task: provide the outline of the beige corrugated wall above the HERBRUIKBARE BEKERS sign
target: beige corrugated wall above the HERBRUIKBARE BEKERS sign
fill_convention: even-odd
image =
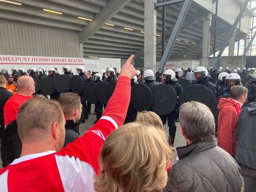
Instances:
[[[0,54],[81,57],[76,31],[0,20]]]

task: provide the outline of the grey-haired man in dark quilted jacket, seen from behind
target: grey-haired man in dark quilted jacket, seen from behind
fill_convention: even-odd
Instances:
[[[236,161],[214,142],[214,117],[199,102],[180,107],[180,129],[188,145],[177,148],[180,161],[168,173],[165,191],[232,191],[242,189]]]

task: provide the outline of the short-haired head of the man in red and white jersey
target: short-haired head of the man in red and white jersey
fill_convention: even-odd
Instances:
[[[65,118],[58,102],[42,96],[29,99],[20,106],[17,125],[22,152],[24,148],[33,147],[33,143],[39,143],[33,150],[58,151],[63,147]]]

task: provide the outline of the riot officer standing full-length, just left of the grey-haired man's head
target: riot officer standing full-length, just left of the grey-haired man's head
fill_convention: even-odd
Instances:
[[[179,97],[180,93],[183,92],[182,86],[177,82],[177,78],[175,77],[175,72],[172,69],[167,69],[163,72],[163,81],[162,83],[168,84],[172,86],[172,88],[177,93],[177,96]],[[168,127],[169,127],[169,143],[170,145],[173,145],[174,139],[175,139],[175,133],[176,133],[176,119],[178,116],[179,111],[179,105],[176,106],[176,109],[168,114],[168,115],[160,115],[160,118],[163,122],[163,125],[166,124],[166,120],[168,120]],[[177,114],[178,113],[178,114]]]

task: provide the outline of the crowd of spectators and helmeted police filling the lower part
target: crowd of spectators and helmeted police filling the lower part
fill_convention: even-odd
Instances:
[[[121,70],[76,68],[85,84],[116,82],[108,104],[95,104],[95,125],[83,136],[79,125],[88,118],[90,103],[82,95],[67,92],[51,99],[35,95],[36,82],[60,76],[56,68],[48,74],[45,68],[31,67],[28,73],[12,68],[10,74],[3,69],[0,189],[255,191],[255,68],[233,72],[222,67],[172,68],[154,74],[151,69],[136,70],[132,59]],[[63,72],[74,76],[69,66]],[[195,101],[178,102],[168,115],[138,112],[129,105],[131,87],[138,83],[150,89],[168,84],[179,98],[180,79],[202,84],[220,99],[217,121],[211,109]],[[187,145],[176,148],[179,161],[173,164],[178,121]]]

